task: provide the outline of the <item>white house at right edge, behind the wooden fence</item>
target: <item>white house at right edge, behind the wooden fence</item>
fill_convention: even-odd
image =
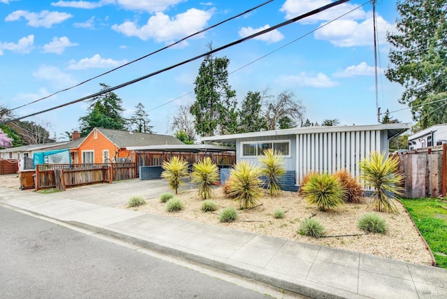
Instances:
[[[408,136],[410,150],[447,143],[447,124],[436,124]]]

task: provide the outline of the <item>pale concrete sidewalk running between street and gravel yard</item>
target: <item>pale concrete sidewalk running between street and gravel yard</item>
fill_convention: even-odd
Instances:
[[[98,205],[73,190],[45,195],[0,187],[0,204],[311,298],[447,298],[441,268]],[[95,194],[98,202],[101,196],[107,194]]]

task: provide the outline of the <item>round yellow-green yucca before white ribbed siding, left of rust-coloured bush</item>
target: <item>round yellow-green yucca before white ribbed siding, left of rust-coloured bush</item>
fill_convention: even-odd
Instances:
[[[344,203],[346,191],[339,181],[328,173],[314,173],[302,187],[302,195],[308,203],[317,205],[322,211]]]

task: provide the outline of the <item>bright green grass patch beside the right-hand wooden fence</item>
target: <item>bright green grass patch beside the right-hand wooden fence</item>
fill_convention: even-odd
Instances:
[[[447,201],[420,198],[402,199],[402,203],[432,249],[438,266],[447,269]]]

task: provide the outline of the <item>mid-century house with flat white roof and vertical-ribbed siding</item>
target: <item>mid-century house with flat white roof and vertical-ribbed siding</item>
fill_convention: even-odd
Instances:
[[[284,154],[287,170],[286,189],[298,187],[310,171],[334,173],[346,169],[360,175],[359,161],[370,152],[388,154],[388,142],[410,129],[411,124],[374,124],[368,126],[306,126],[293,129],[239,133],[203,137],[204,143],[233,143],[236,162],[258,163],[264,149],[278,149]]]

